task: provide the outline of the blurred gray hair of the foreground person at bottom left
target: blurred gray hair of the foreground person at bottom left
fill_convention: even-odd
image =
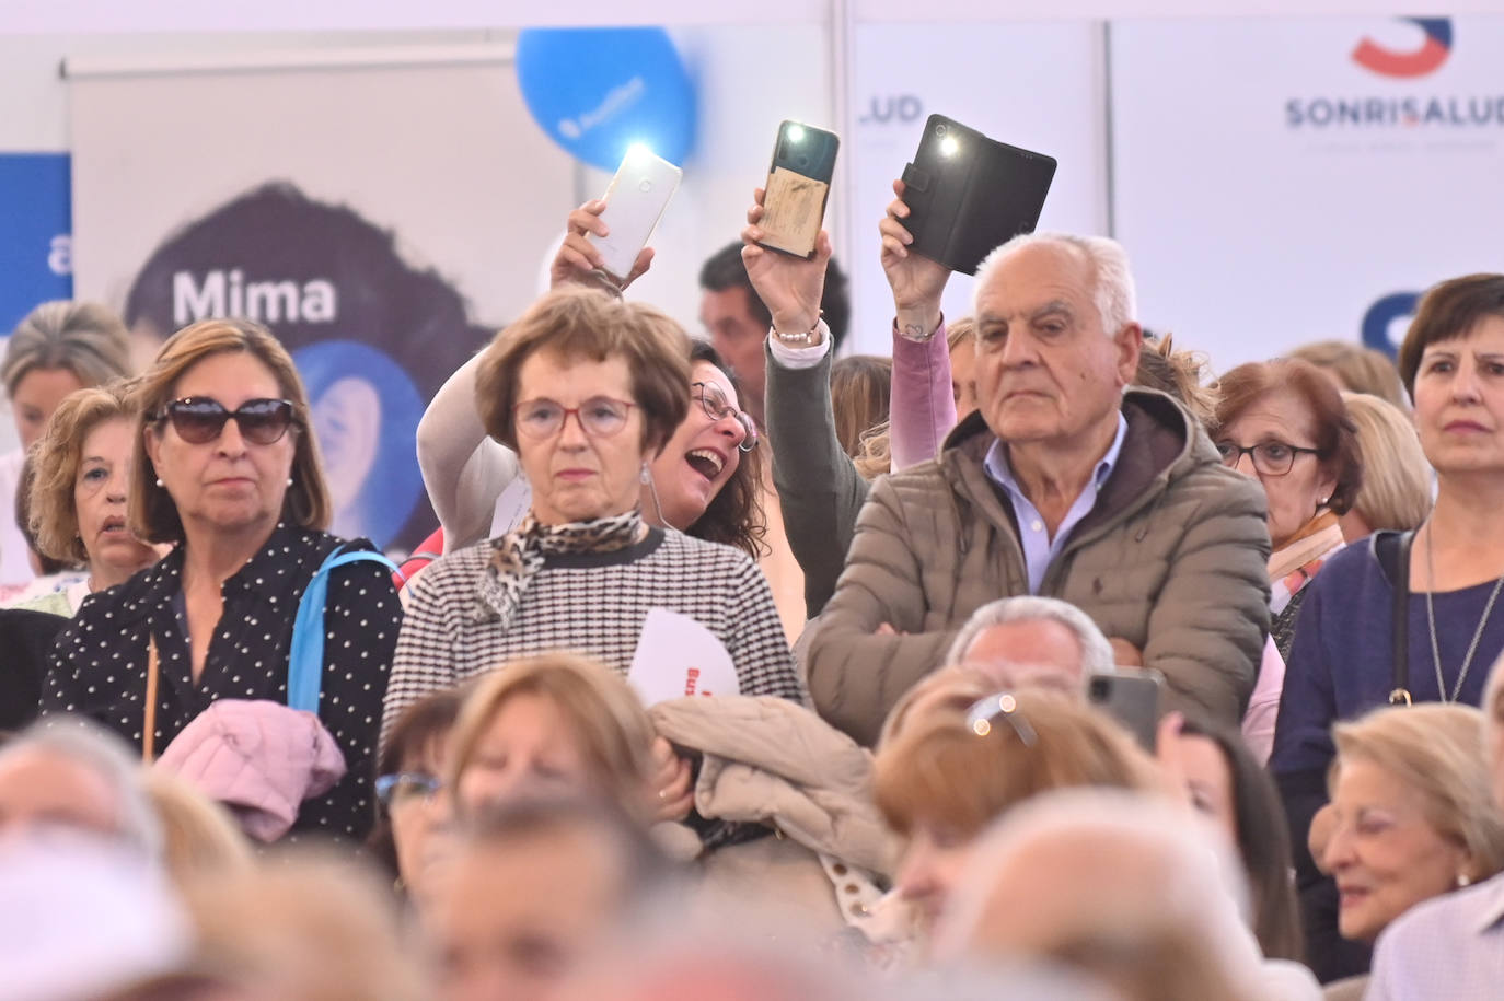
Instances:
[[[51,755],[99,776],[116,797],[116,837],[152,860],[162,857],[165,836],[146,791],[141,762],[114,733],[78,715],[48,715],[0,747],[0,764],[27,752]]]

